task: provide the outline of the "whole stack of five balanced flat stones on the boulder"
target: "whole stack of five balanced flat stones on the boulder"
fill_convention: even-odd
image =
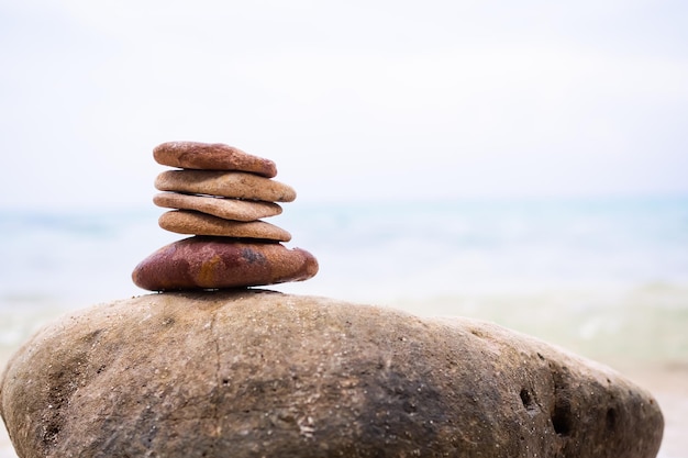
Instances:
[[[144,259],[132,273],[151,291],[242,288],[299,281],[318,272],[308,252],[280,242],[291,235],[262,217],[281,213],[277,202],[296,192],[273,180],[275,163],[223,144],[169,142],[157,146],[158,164],[177,167],[162,172],[153,199],[164,213],[164,230],[192,237],[167,245]]]

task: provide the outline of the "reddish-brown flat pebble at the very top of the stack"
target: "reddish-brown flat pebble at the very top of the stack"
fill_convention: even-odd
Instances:
[[[201,170],[240,170],[273,178],[277,166],[269,159],[222,143],[167,142],[153,149],[158,164]]]

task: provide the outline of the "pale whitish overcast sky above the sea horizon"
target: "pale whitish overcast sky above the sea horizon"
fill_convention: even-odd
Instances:
[[[688,192],[688,3],[0,0],[0,206],[151,204],[155,145],[301,201]]]

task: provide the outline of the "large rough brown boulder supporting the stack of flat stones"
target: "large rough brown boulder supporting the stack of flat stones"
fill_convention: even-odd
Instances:
[[[9,362],[33,457],[654,457],[622,376],[473,320],[244,290],[99,305]]]

